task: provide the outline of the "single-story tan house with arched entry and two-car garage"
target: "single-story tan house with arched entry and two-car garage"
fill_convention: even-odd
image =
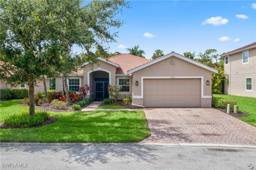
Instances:
[[[88,97],[102,100],[108,97],[107,85],[122,86],[121,96],[132,96],[132,105],[144,107],[211,107],[212,73],[218,70],[171,53],[149,60],[130,54],[120,54],[70,73],[68,87],[78,91],[90,85]],[[56,91],[61,91],[62,77],[56,77]]]

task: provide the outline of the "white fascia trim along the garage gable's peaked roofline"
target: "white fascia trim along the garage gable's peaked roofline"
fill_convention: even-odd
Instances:
[[[154,64],[154,63],[158,63],[159,61],[162,61],[162,60],[167,59],[167,58],[172,57],[172,56],[175,56],[175,57],[177,57],[177,58],[179,58],[179,59],[182,59],[182,60],[187,61],[187,62],[189,62],[189,63],[192,63],[192,64],[194,64],[194,65],[197,65],[198,67],[202,67],[202,68],[204,68],[204,69],[207,69],[207,70],[209,70],[209,71],[212,71],[213,73],[218,73],[218,70],[216,70],[216,69],[214,69],[214,68],[212,68],[212,67],[209,67],[209,66],[207,66],[207,65],[204,65],[204,64],[202,64],[202,63],[200,63],[200,62],[198,62],[198,61],[195,61],[195,60],[190,59],[190,58],[188,58],[188,57],[184,57],[183,55],[180,55],[180,54],[175,53],[174,51],[172,51],[171,53],[166,54],[166,55],[164,55],[164,56],[162,56],[162,57],[159,57],[159,58],[157,58],[157,59],[155,59],[155,60],[153,60],[153,61],[150,61],[149,63],[145,63],[144,65],[140,65],[140,66],[138,66],[138,67],[136,67],[136,68],[134,68],[134,69],[129,70],[129,71],[127,72],[127,74],[132,74],[132,73],[134,73],[135,71],[138,71],[138,70],[140,70],[140,69],[143,69],[143,68],[145,68],[145,67],[148,67],[148,66],[150,66],[150,65],[152,65],[152,64]]]

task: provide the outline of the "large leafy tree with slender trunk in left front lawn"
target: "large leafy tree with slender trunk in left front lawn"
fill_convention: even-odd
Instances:
[[[110,28],[122,26],[116,16],[128,4],[121,0],[81,4],[81,0],[0,2],[1,79],[11,85],[28,84],[30,115],[35,111],[36,79],[77,68],[77,55],[71,53],[74,44],[92,53],[93,48],[104,51],[108,48],[104,44],[116,41],[117,32]],[[89,59],[96,62],[94,55]]]

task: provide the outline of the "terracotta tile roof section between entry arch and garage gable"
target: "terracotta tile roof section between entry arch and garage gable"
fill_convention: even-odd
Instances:
[[[140,65],[144,65],[152,60],[138,57],[131,54],[119,54],[108,58],[109,61],[120,65],[120,69],[116,69],[116,74],[126,74],[128,70],[134,69]]]

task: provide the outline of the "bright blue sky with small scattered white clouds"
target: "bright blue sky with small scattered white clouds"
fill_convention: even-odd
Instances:
[[[89,1],[85,1],[84,4]],[[156,49],[219,54],[256,41],[256,1],[136,1],[118,16],[124,25],[109,52],[139,45],[150,59]],[[80,50],[77,50],[78,53]]]

